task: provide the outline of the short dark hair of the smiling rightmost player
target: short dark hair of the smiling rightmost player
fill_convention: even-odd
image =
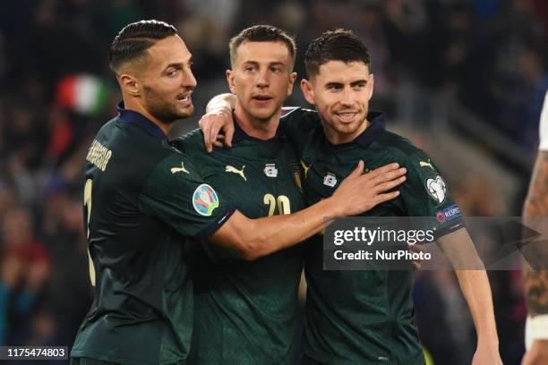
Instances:
[[[352,30],[328,30],[315,38],[304,54],[307,77],[313,78],[320,72],[320,66],[330,61],[344,63],[363,62],[371,64],[369,51]]]

